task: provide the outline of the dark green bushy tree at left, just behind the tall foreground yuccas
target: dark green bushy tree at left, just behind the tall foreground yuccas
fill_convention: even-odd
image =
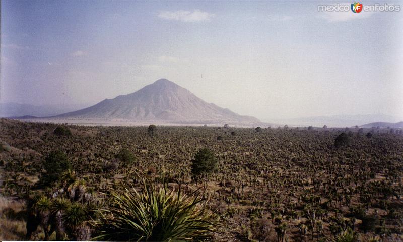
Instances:
[[[42,175],[42,181],[45,184],[50,184],[56,181],[65,170],[71,169],[72,165],[65,153],[53,151],[46,157],[44,168],[46,173]]]

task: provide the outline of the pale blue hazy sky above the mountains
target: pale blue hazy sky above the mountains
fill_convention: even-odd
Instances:
[[[261,120],[403,119],[403,11],[318,12],[331,3],[2,0],[0,102],[95,104],[167,78]]]

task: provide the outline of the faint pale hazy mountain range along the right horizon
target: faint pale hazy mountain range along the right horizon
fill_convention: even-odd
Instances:
[[[292,119],[279,119],[277,123],[294,125],[294,126],[316,126],[322,127],[351,127],[371,122],[383,120],[384,122],[395,123],[399,119],[384,114],[359,114],[359,115],[334,115],[334,116],[313,116]]]

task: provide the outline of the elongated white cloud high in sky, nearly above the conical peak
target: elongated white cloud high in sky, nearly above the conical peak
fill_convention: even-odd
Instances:
[[[177,20],[182,22],[203,22],[203,21],[209,22],[214,17],[214,14],[201,12],[200,10],[196,9],[193,11],[184,11],[184,10],[179,10],[176,12],[163,11],[158,15],[158,17],[162,19]]]

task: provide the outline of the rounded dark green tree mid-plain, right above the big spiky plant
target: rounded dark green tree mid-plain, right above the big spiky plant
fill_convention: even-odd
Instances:
[[[196,182],[217,168],[217,159],[208,148],[199,150],[191,163],[192,179]]]

